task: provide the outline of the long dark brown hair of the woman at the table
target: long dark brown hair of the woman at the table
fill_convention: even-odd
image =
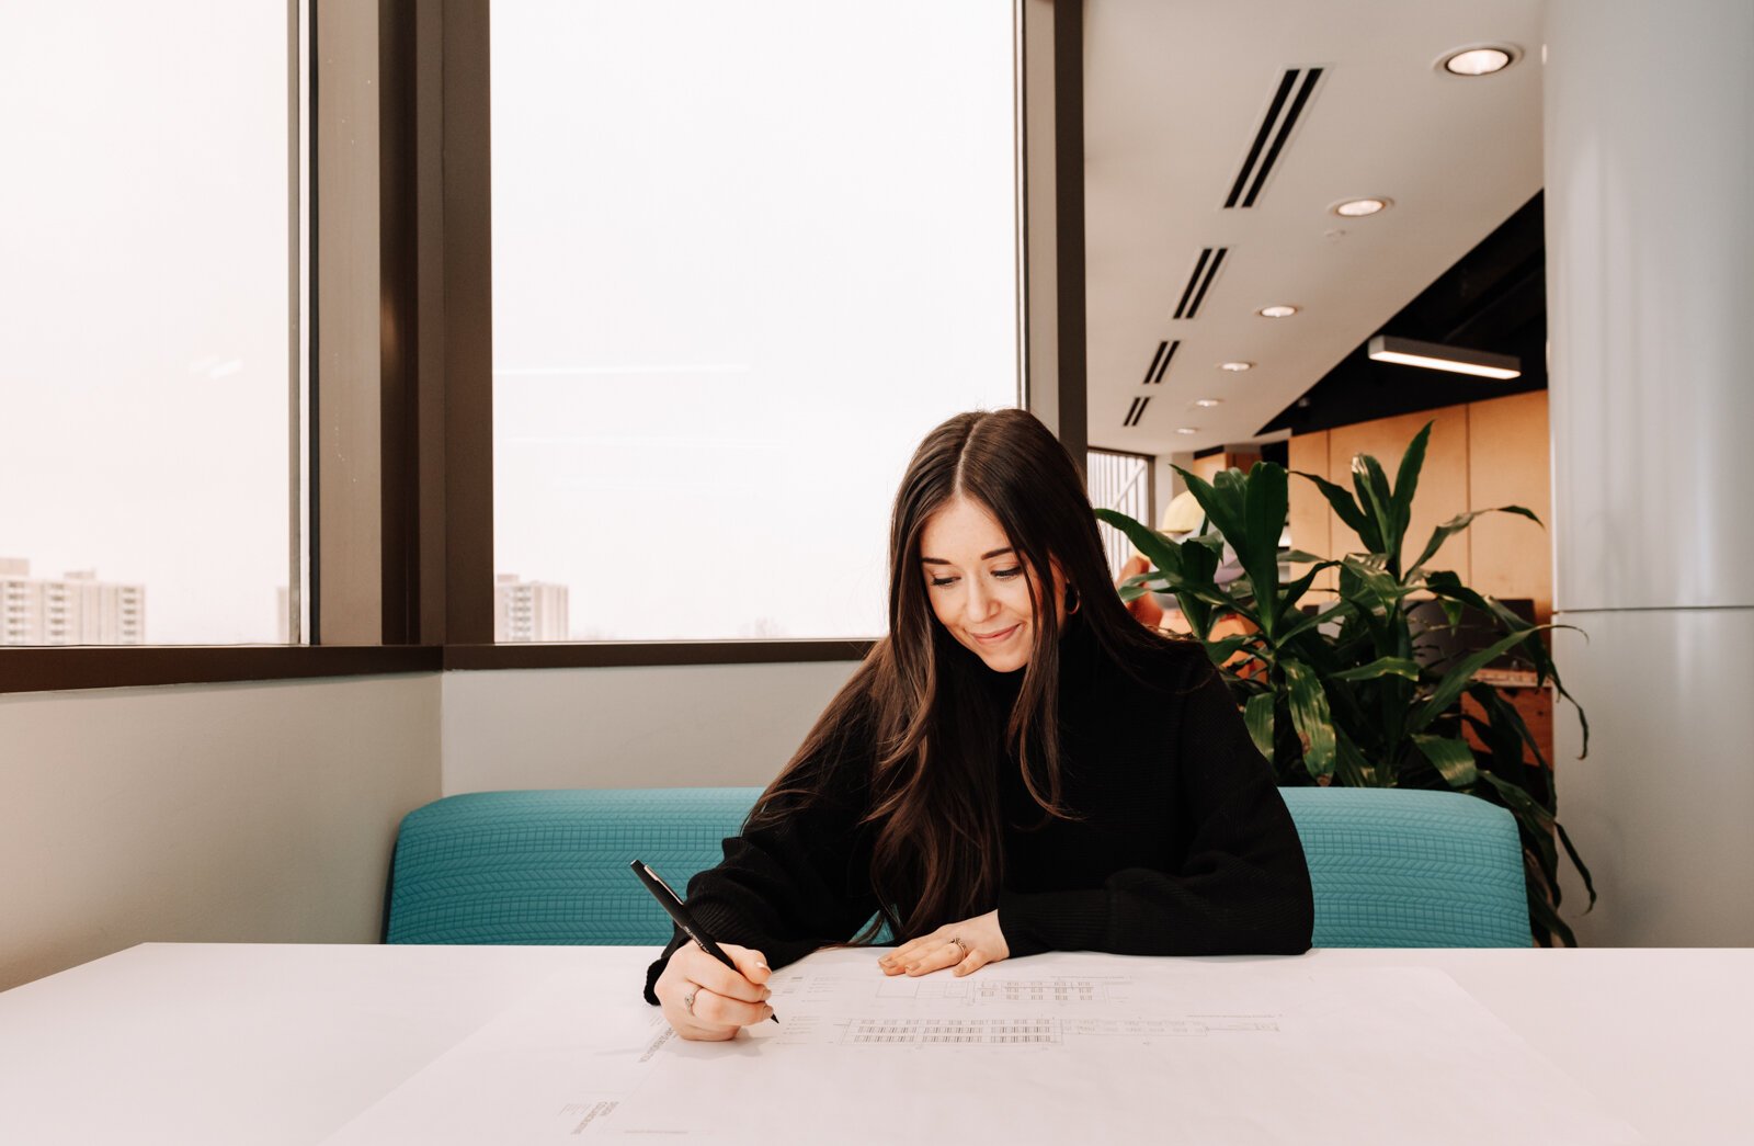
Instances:
[[[1031,570],[1035,648],[1009,711],[1002,711],[1005,693],[991,686],[993,670],[944,628],[926,598],[919,537],[956,497],[984,505]],[[1073,623],[1087,625],[1109,656],[1126,663],[1130,651],[1163,646],[1114,593],[1084,479],[1047,426],[1024,411],[975,411],[928,433],[889,519],[889,635],[768,784],[747,825],[777,825],[798,804],[819,799],[830,769],[817,765],[858,755],[861,746],[849,746],[849,734],[872,737],[870,776],[852,783],[868,784],[870,886],[896,939],[996,904],[1005,876],[1002,753],[1016,758],[1042,825],[1077,816],[1061,802],[1059,602],[1042,598],[1054,591],[1056,567]],[[856,942],[875,932],[873,921]]]

